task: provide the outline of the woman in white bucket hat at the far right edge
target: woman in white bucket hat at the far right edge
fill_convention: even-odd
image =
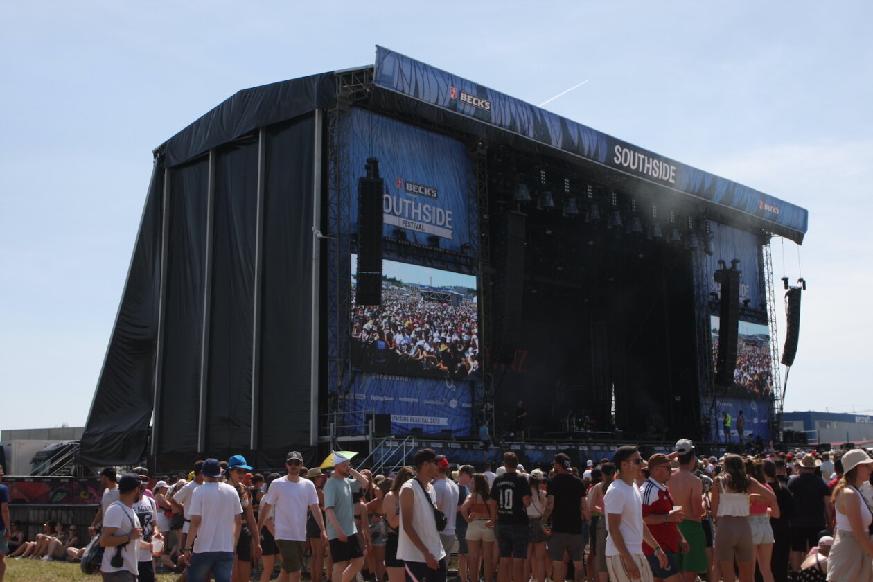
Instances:
[[[861,496],[861,484],[870,479],[873,460],[861,448],[842,455],[842,479],[831,499],[836,516],[834,545],[828,554],[828,580],[832,582],[873,581],[873,514]]]

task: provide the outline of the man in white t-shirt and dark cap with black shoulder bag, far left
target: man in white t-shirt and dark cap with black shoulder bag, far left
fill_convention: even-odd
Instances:
[[[100,545],[105,548],[100,573],[104,582],[136,582],[139,574],[137,540],[142,528],[134,513],[140,499],[140,477],[127,474],[118,481],[119,500],[107,507],[100,530]]]

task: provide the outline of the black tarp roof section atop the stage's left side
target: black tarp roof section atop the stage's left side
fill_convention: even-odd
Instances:
[[[258,127],[330,106],[335,99],[332,72],[237,91],[157,147],[155,154],[172,168]]]

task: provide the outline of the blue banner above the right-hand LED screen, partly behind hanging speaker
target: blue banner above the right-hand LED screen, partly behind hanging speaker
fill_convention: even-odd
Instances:
[[[711,290],[720,293],[720,285],[712,278],[721,259],[730,266],[738,258],[737,269],[743,271],[739,279],[739,305],[749,300],[752,309],[765,309],[764,289],[761,284],[761,253],[758,236],[745,230],[734,229],[725,224],[710,223],[712,229],[712,256],[706,257],[706,270],[710,275]]]

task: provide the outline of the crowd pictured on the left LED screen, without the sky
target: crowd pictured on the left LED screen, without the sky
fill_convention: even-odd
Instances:
[[[463,380],[479,369],[477,305],[382,286],[382,305],[352,306],[352,358],[370,372]],[[354,298],[353,298],[354,301]]]

